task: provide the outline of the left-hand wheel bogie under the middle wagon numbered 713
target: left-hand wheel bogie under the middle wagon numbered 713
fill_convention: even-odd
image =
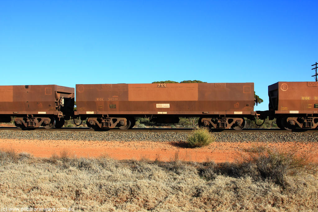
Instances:
[[[90,117],[86,121],[87,127],[91,129],[105,129],[119,127],[120,129],[128,129],[130,121],[123,117]],[[129,125],[129,126],[128,126]]]

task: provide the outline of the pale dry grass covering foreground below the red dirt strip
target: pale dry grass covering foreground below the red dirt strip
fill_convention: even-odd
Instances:
[[[298,165],[282,169],[284,184],[259,174],[258,166],[270,168],[259,164],[263,156],[275,151],[247,149],[241,160],[224,164],[185,162],[178,153],[161,162],[0,152],[0,202],[75,211],[317,211],[316,165],[294,154]],[[274,158],[290,160],[280,154]]]

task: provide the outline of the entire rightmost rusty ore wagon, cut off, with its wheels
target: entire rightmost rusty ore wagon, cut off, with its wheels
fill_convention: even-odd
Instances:
[[[277,82],[268,86],[270,119],[292,130],[318,126],[318,82]]]

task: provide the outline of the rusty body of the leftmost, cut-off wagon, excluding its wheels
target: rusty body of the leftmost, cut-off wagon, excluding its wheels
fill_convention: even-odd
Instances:
[[[74,88],[59,85],[0,86],[0,114],[58,114],[57,100],[63,97],[63,110],[70,112],[74,103]],[[72,109],[73,110],[73,109]],[[62,111],[62,109],[61,109]]]

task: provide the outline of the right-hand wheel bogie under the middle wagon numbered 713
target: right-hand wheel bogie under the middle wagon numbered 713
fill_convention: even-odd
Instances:
[[[241,130],[245,127],[244,118],[201,118],[199,126],[215,129],[230,129]]]

